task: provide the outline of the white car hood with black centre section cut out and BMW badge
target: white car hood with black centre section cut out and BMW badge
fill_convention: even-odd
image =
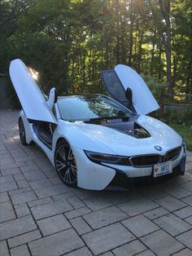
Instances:
[[[132,121],[142,126],[148,131],[150,136],[148,138],[137,139],[133,135],[126,134],[120,130],[85,122],[76,122],[74,126],[86,137],[89,137],[91,141],[94,139],[97,143],[103,143],[105,147],[121,156],[146,153],[164,155],[168,150],[181,146],[181,136],[162,121],[147,116],[136,116],[132,118]],[[162,151],[157,151],[155,149],[156,145],[160,146]]]

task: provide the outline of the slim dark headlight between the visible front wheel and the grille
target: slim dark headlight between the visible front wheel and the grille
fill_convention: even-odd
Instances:
[[[129,157],[121,157],[110,154],[102,154],[98,152],[90,152],[85,150],[85,154],[91,161],[103,162],[108,164],[120,165],[120,166],[131,166]]]

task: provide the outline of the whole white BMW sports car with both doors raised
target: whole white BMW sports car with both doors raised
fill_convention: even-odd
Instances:
[[[102,72],[106,95],[48,98],[21,60],[11,81],[20,99],[20,141],[46,152],[60,179],[72,187],[102,190],[136,178],[185,173],[185,143],[162,121],[146,116],[159,108],[132,68]]]

